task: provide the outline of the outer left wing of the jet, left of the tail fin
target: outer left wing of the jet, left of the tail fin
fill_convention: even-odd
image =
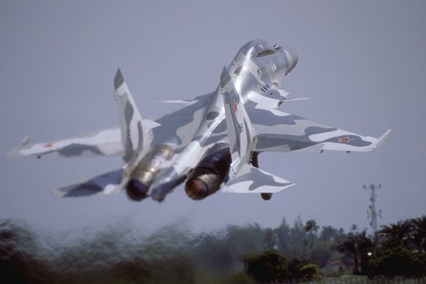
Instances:
[[[6,153],[4,158],[16,158],[28,155],[35,155],[40,158],[42,155],[50,153],[58,153],[62,157],[121,155],[122,153],[120,129],[107,129],[60,141],[35,143],[31,146],[28,146],[29,140],[29,137],[24,138],[16,148]]]

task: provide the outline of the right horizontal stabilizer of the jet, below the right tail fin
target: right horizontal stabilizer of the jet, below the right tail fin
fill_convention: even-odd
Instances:
[[[223,192],[233,193],[275,193],[295,185],[293,182],[278,178],[252,165],[244,165],[238,173],[229,180]]]

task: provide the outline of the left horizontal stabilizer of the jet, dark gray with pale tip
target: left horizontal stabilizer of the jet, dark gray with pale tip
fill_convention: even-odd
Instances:
[[[91,178],[86,182],[52,190],[52,193],[56,197],[84,197],[118,193],[123,187],[121,184],[122,171],[121,169],[113,170],[109,173]]]

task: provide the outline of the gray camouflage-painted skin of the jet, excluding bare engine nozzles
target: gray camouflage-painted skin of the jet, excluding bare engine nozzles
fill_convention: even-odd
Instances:
[[[122,116],[125,122],[121,124],[121,136],[120,129],[113,129],[92,136],[37,143],[32,146],[23,143],[6,156],[41,156],[49,153],[59,153],[65,157],[82,154],[123,155],[126,165],[121,179],[117,180],[116,172],[113,172],[109,183],[103,182],[99,186],[93,186],[94,180],[97,179],[94,178],[74,187],[64,187],[66,190],[62,188],[60,191],[62,196],[86,195],[84,192],[87,195],[93,192],[109,194],[123,187],[126,180],[131,178],[132,168],[137,166],[149,148],[175,141],[173,157],[161,165],[162,168],[148,192],[153,199],[162,200],[168,192],[185,180],[187,173],[197,165],[209,148],[216,143],[229,143],[231,137],[238,143],[241,139],[247,142],[245,149],[238,145],[231,146],[231,152],[239,152],[239,155],[249,153],[249,156],[245,157],[246,163],[250,160],[251,151],[371,151],[376,145],[383,143],[390,131],[381,139],[359,136],[278,110],[278,106],[289,99],[288,92],[282,88],[282,81],[296,64],[297,55],[288,48],[271,46],[263,40],[251,40],[239,50],[229,67],[224,70],[226,72],[222,72],[221,82],[214,92],[196,97],[182,109],[166,114],[155,122],[151,121],[155,126],[146,125],[147,122],[139,117],[121,70],[118,70],[114,77],[114,88],[121,91],[116,94],[116,99],[127,96],[126,104],[121,107],[119,104],[119,111],[124,112]],[[223,92],[225,86],[231,95],[224,95],[222,99],[221,91]],[[230,110],[228,114],[231,114],[227,119],[238,122],[234,124],[233,129],[226,127],[224,100]],[[248,114],[243,123],[233,114],[234,104],[235,112],[241,110]],[[135,121],[136,129],[133,129]],[[251,127],[251,133],[244,132]],[[252,183],[247,185],[248,191],[243,192],[276,192],[293,185],[269,173],[250,168],[250,165],[241,165],[241,170],[244,169],[245,172],[239,170],[239,173],[233,173],[234,180],[229,177],[228,187],[224,191],[239,192],[234,186],[239,183],[244,185],[249,180],[252,180]],[[108,174],[101,177],[102,180],[108,180]],[[241,182],[236,182],[238,180]],[[82,188],[92,188],[92,191]],[[89,194],[90,192],[92,193]]]

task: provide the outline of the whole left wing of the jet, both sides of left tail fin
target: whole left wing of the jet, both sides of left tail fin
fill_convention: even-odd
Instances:
[[[175,140],[179,146],[189,143],[198,126],[204,118],[204,111],[209,103],[211,94],[195,98],[187,106],[171,114],[149,121],[148,126],[161,125],[153,128],[153,143]],[[19,158],[35,155],[58,153],[60,156],[81,157],[90,155],[123,155],[120,129],[106,129],[94,133],[66,138],[59,141],[35,143],[29,145],[30,138],[26,137],[15,148],[4,155],[4,158]]]

